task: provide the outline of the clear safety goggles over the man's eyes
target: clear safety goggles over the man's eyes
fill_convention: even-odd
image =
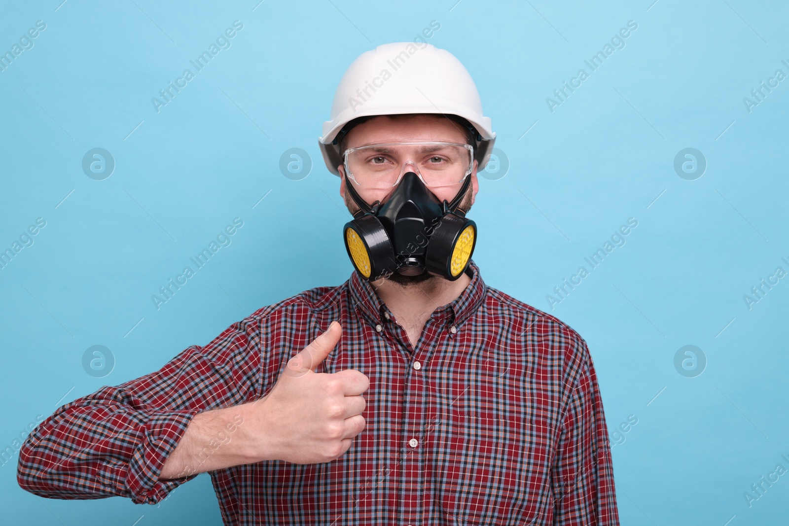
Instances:
[[[343,153],[347,177],[360,188],[387,189],[413,172],[428,188],[460,185],[473,170],[470,144],[402,141],[367,144]]]

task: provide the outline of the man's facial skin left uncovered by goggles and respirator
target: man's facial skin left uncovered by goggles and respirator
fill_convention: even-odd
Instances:
[[[413,115],[401,118],[389,118],[385,115],[374,117],[361,124],[353,126],[350,132],[347,133],[343,141],[343,148],[353,148],[359,146],[366,146],[368,144],[381,144],[381,143],[395,143],[400,141],[413,141],[413,140],[432,140],[432,141],[446,141],[451,143],[466,143],[466,133],[463,132],[461,126],[451,119],[433,116],[433,115]],[[357,203],[346,194],[346,173],[345,166],[338,166],[340,173],[340,196],[346,203],[346,207],[351,214],[359,211]],[[477,161],[473,162],[473,170],[469,173],[471,177],[471,185],[469,186],[466,195],[460,203],[459,208],[464,212],[468,212],[471,205],[474,203],[474,198],[477,196]],[[353,181],[350,181],[353,185]],[[380,188],[364,188],[354,186],[361,199],[366,203],[372,204],[380,201],[386,203],[394,188],[380,189]],[[439,187],[431,190],[439,201],[454,199],[459,188],[456,187]],[[433,274],[424,272],[416,276],[404,276],[402,274],[391,274],[387,281],[398,283],[399,285],[412,285],[428,280],[438,279]]]

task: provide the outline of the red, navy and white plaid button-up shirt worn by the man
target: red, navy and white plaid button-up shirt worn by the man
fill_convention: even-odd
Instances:
[[[365,430],[335,461],[211,472],[226,524],[619,524],[586,342],[485,285],[475,263],[468,273],[415,346],[355,271],[260,308],[159,371],[59,408],[25,441],[17,479],[43,497],[155,504],[194,477],[159,481],[192,417],[263,397],[338,320],[316,371],[369,377]]]

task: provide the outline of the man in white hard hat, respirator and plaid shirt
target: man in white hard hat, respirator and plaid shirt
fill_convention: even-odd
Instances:
[[[323,132],[350,279],[59,408],[21,486],[152,504],[210,472],[226,524],[619,524],[585,341],[471,259],[495,134],[466,69],[377,47]]]

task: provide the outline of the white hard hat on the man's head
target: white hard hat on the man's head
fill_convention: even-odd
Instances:
[[[338,132],[358,117],[394,114],[457,115],[477,130],[474,158],[484,169],[495,132],[482,115],[480,94],[462,63],[447,50],[428,43],[382,44],[365,51],[346,70],[331,104],[331,121],[318,139],[323,160],[339,175],[342,164]]]

